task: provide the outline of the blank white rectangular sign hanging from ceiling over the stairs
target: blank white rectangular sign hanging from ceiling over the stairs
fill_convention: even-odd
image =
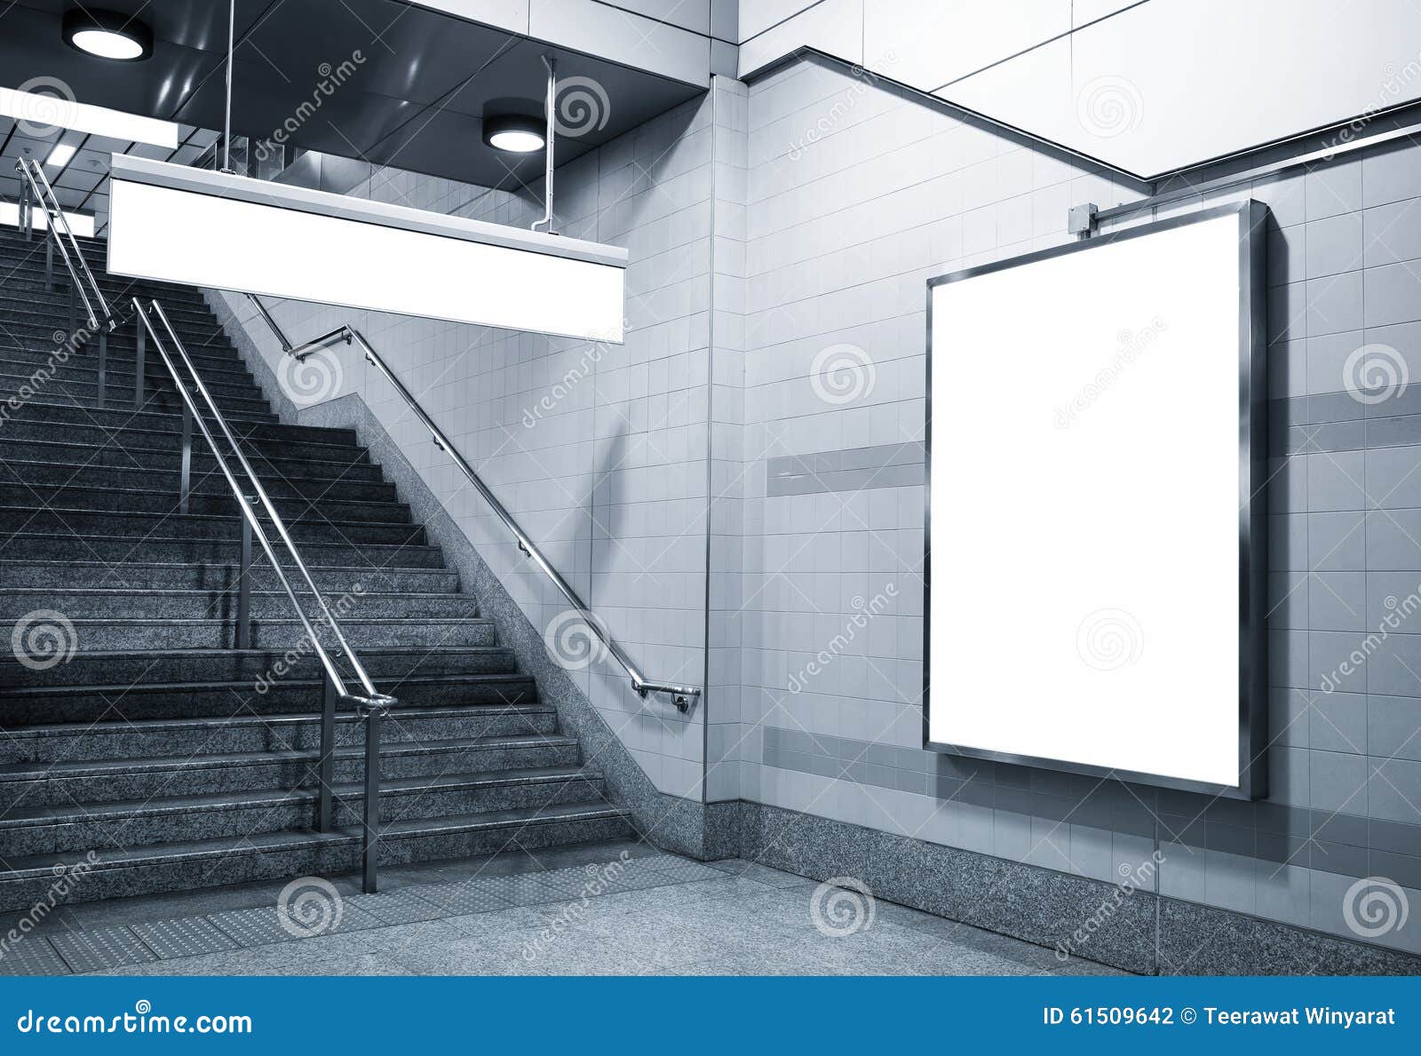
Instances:
[[[617,246],[114,158],[115,274],[618,344],[625,262]]]

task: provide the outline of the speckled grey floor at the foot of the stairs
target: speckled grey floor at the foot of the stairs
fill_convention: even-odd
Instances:
[[[747,861],[598,843],[61,907],[0,975],[1080,975],[1090,961]],[[284,905],[286,910],[279,910]],[[816,905],[818,912],[816,915]],[[836,912],[836,905],[845,910]],[[0,935],[20,915],[0,920]]]

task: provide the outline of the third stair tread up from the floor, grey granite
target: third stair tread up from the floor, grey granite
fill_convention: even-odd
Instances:
[[[394,740],[381,745],[381,758],[441,755],[492,748],[568,748],[576,738],[563,733],[496,733],[482,738],[446,738],[435,740]],[[335,756],[364,758],[362,745],[342,745]],[[317,752],[287,749],[270,752],[213,752],[189,756],[149,756],[144,759],[75,759],[54,763],[0,763],[0,783],[44,780],[51,777],[94,777],[108,773],[166,773],[173,770],[210,770],[219,767],[267,766],[271,763],[307,762]],[[418,780],[418,779],[416,779]]]

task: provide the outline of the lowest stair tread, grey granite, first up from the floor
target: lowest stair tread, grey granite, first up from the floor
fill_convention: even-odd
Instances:
[[[421,833],[448,833],[462,829],[512,829],[530,823],[557,823],[593,819],[628,817],[628,812],[615,807],[605,800],[588,800],[585,803],[561,803],[547,807],[513,807],[507,810],[487,810],[476,814],[445,814],[432,819],[409,819],[389,821],[382,826],[381,839],[418,836]],[[182,843],[151,843],[129,848],[108,848],[102,853],[99,868],[124,868],[146,864],[163,864],[182,860],[222,858],[233,851],[280,851],[318,844],[355,843],[360,839],[358,829],[341,829],[334,833],[317,833],[313,830],[286,830],[276,833],[253,833],[243,837],[223,837],[216,840],[188,840]],[[75,853],[37,854],[30,857],[10,858],[10,870],[0,874],[3,880],[27,880],[34,877],[54,877],[55,867],[70,868],[75,864]]]

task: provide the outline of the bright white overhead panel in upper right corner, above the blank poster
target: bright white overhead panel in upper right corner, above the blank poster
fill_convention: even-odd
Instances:
[[[1418,41],[1411,0],[1148,0],[938,95],[1157,178],[1421,98]]]

